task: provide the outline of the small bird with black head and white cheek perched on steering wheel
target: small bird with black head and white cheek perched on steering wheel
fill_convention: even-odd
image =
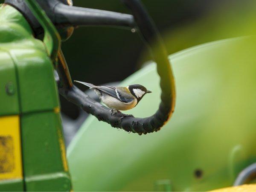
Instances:
[[[134,108],[146,93],[152,93],[140,84],[127,87],[95,86],[91,83],[75,81],[90,87],[99,96],[99,99],[112,111],[125,111]]]

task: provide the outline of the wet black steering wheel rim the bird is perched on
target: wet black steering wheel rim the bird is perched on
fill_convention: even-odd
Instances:
[[[157,73],[160,76],[162,90],[161,103],[157,112],[146,118],[127,116],[122,113],[111,114],[109,108],[91,99],[72,84],[61,52],[58,54],[61,64],[57,68],[61,80],[59,82],[59,92],[67,100],[78,105],[87,113],[93,114],[100,121],[108,122],[112,127],[122,128],[125,131],[141,135],[160,130],[171,117],[175,107],[175,82],[163,41],[144,7],[139,0],[122,0],[122,2],[134,15],[137,27],[151,49],[154,61],[157,63]]]

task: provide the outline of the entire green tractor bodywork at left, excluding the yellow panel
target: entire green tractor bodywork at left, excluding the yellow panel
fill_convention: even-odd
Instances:
[[[70,191],[53,64],[23,15],[8,5],[0,6],[0,75],[0,115],[20,114],[25,181],[16,189],[15,180],[0,180],[0,189]]]

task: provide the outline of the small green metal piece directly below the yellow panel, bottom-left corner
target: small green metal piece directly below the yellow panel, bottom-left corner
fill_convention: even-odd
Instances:
[[[0,191],[24,191],[23,179],[0,180]]]

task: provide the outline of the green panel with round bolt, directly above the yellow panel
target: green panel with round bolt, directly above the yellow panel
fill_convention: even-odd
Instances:
[[[10,55],[0,48],[0,116],[19,114],[15,65]]]

